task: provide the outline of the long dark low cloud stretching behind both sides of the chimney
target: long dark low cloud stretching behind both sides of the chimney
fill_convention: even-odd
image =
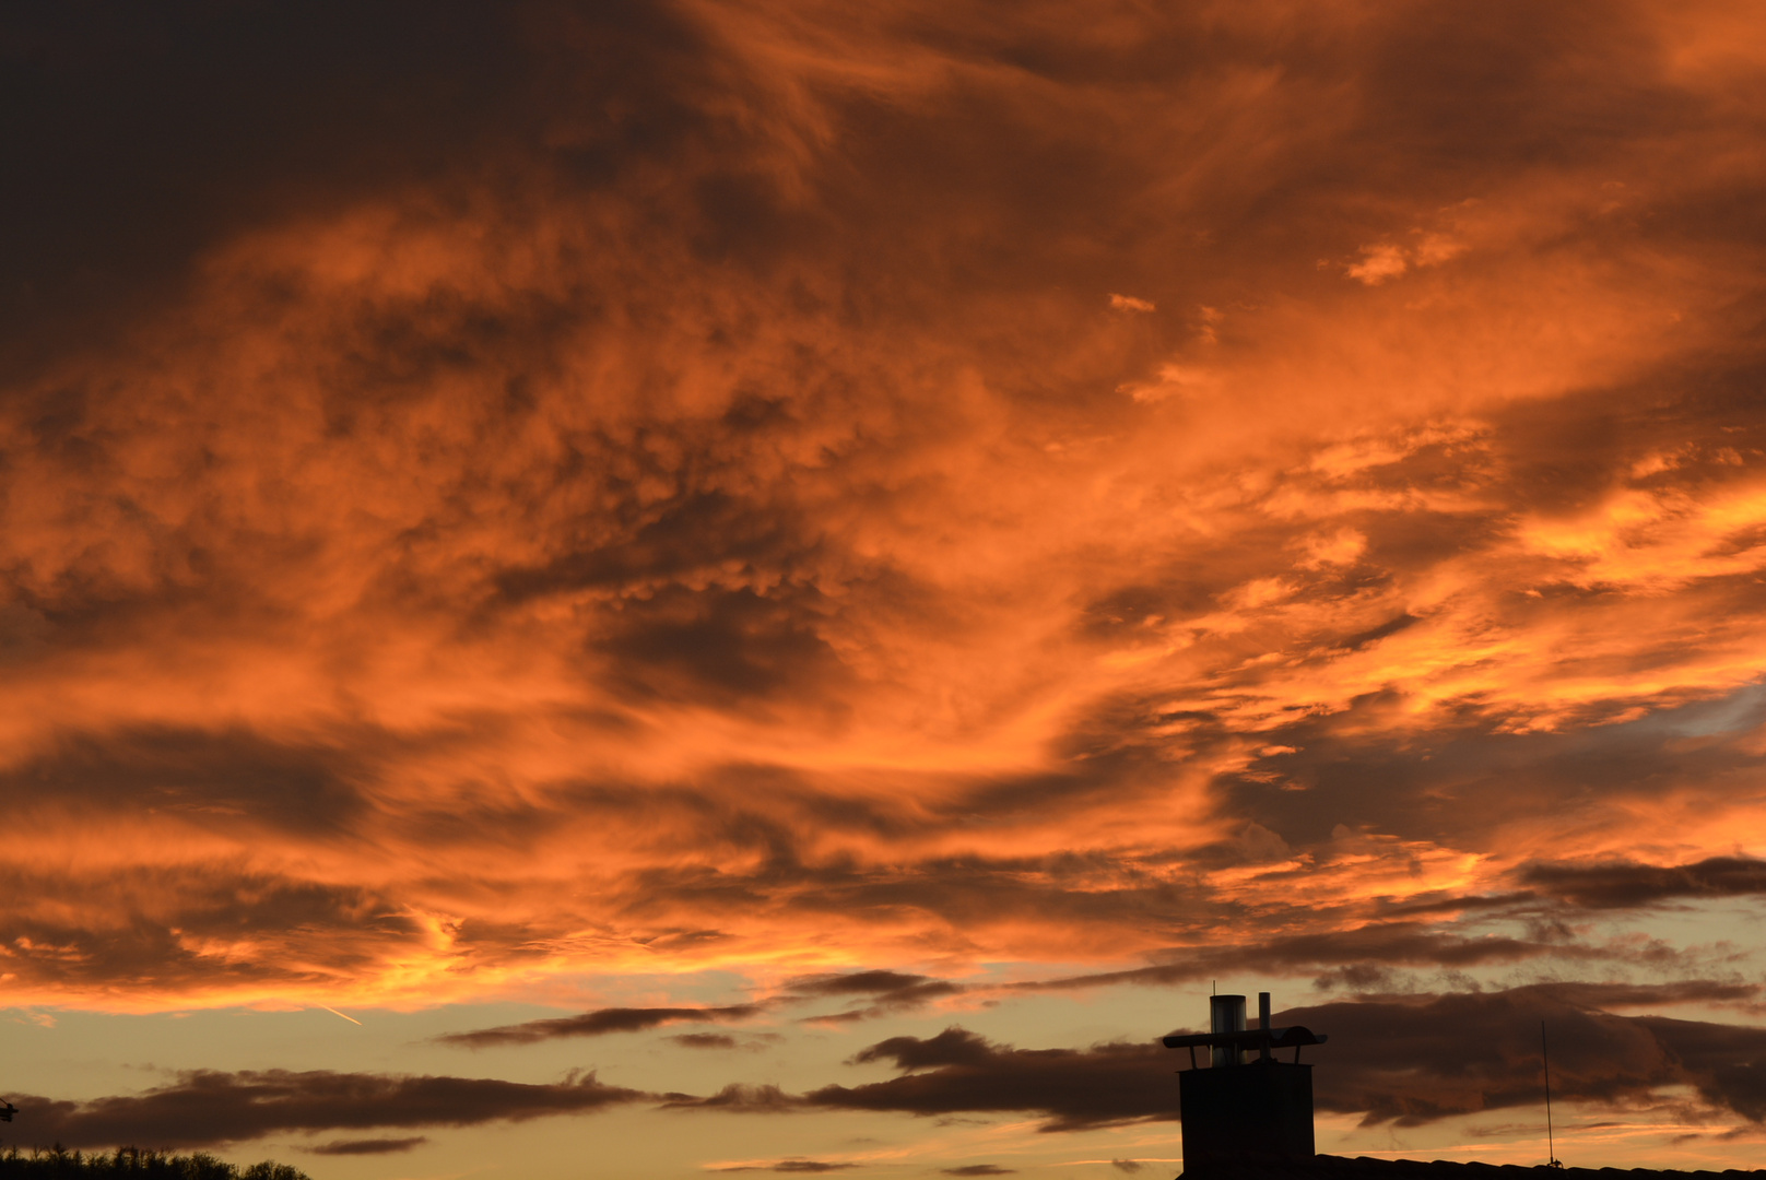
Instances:
[[[1566,1101],[1672,1106],[1676,1086],[1750,1122],[1766,1118],[1766,1030],[1747,1025],[1621,1016],[1607,1009],[1747,1002],[1752,984],[1538,984],[1498,993],[1415,995],[1277,1012],[1330,1037],[1312,1051],[1319,1109],[1363,1125],[1422,1125],[1543,1101],[1540,1021],[1552,1046],[1552,1092]],[[890,1037],[855,1063],[888,1062],[899,1078],[830,1085],[802,1095],[726,1086],[712,1099],[666,1095],[676,1109],[802,1113],[901,1111],[922,1116],[1033,1113],[1042,1131],[1083,1131],[1178,1118],[1173,1072],[1185,1060],[1160,1044],[1017,1049],[959,1026]],[[970,1173],[984,1175],[984,1173]]]

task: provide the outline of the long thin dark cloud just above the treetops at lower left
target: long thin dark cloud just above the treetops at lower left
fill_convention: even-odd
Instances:
[[[19,1120],[65,1146],[208,1146],[281,1131],[473,1127],[546,1115],[586,1115],[648,1095],[579,1074],[528,1085],[493,1078],[192,1070],[140,1095],[67,1102],[23,1095]],[[389,1148],[390,1150],[390,1148]]]

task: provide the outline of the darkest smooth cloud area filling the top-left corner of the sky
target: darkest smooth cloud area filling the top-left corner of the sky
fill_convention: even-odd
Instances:
[[[7,343],[90,323],[94,311],[109,313],[101,323],[140,313],[244,230],[457,177],[473,157],[507,159],[597,87],[562,85],[544,64],[553,55],[537,53],[547,41],[553,55],[563,41],[616,42],[599,87],[636,97],[657,92],[645,62],[691,35],[636,4],[489,12],[401,0],[362,14],[320,0],[298,18],[198,0],[11,7],[0,51],[14,102],[0,132],[19,182],[0,201],[0,260],[14,276],[0,293]],[[574,136],[560,164],[577,184],[606,182],[646,140],[685,129],[687,108],[664,106],[600,141]]]

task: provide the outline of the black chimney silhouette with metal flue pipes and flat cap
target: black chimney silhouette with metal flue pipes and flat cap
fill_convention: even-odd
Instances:
[[[1245,996],[1211,996],[1208,1032],[1166,1037],[1167,1048],[1190,1051],[1190,1069],[1178,1074],[1183,1171],[1312,1159],[1312,1067],[1300,1063],[1300,1048],[1324,1040],[1309,1028],[1272,1028],[1268,991],[1257,993],[1257,1028],[1245,1028]],[[1211,1051],[1206,1069],[1199,1048]],[[1277,1049],[1294,1060],[1275,1060]]]

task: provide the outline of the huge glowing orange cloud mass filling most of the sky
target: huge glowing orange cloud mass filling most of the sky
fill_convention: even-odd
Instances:
[[[7,995],[1616,961],[1766,851],[1759,64],[1584,18],[533,5],[37,193]]]

